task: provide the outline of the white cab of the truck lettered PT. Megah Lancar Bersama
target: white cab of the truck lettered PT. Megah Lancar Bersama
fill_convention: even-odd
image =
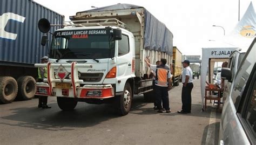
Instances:
[[[123,96],[118,103],[120,113],[129,112],[135,77],[131,32],[117,26],[58,29],[53,33],[49,58],[48,78],[38,83],[38,95],[57,96],[64,110],[75,107],[77,101],[104,103]]]

